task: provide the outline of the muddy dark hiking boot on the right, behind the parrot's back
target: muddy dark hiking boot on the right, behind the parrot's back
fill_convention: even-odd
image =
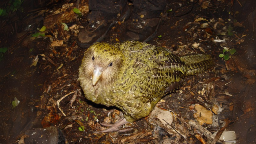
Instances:
[[[161,23],[162,17],[145,18],[145,15],[130,18],[125,22],[125,30],[121,33],[119,40],[136,40],[140,42],[148,42],[156,35],[157,28]]]

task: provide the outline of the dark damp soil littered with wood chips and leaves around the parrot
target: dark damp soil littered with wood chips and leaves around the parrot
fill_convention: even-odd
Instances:
[[[1,6],[7,2],[1,2]],[[70,144],[211,143],[214,139],[206,133],[221,128],[234,131],[237,143],[256,142],[253,0],[168,0],[167,15],[156,36],[147,43],[168,48],[178,56],[211,54],[215,66],[184,78],[179,89],[157,104],[172,113],[173,123],[168,124],[171,128],[146,117],[127,124],[134,127],[132,131],[101,134],[93,133],[104,129],[99,122],[115,122],[121,114],[115,107],[88,101],[77,81],[86,49],[77,46],[76,37],[79,28],[85,26],[88,1],[79,3],[82,17],[72,11],[76,1],[31,3],[24,1],[23,12],[1,17],[0,48],[7,47],[8,51],[2,53],[0,61],[0,143],[17,143],[26,130],[49,126],[58,127]],[[63,30],[61,22],[69,31]],[[43,25],[46,31],[41,33],[45,36],[31,36]],[[119,42],[122,28],[122,22],[115,24],[103,42]],[[224,47],[236,49],[229,60],[219,57]],[[58,106],[57,100],[64,96]],[[19,104],[13,107],[15,98]],[[72,106],[70,101],[74,101]],[[194,115],[199,105],[213,115],[209,116],[212,124],[202,121],[204,130],[190,123],[192,120],[199,125]]]

